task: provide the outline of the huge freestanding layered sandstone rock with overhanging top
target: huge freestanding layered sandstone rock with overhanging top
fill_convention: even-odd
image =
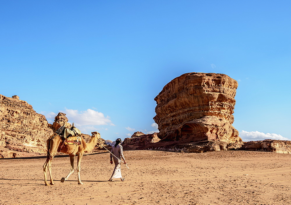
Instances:
[[[186,73],[166,84],[155,98],[161,142],[242,143],[231,125],[237,81],[224,74]]]

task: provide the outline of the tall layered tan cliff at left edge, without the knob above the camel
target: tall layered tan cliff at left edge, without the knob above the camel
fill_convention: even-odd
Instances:
[[[18,97],[18,96],[17,96]],[[46,153],[47,138],[52,129],[42,114],[17,97],[0,95],[0,146],[14,151]]]

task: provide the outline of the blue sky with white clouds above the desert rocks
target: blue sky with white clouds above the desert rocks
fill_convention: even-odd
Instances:
[[[114,140],[156,130],[154,98],[175,77],[223,73],[239,83],[243,140],[291,139],[290,10],[291,1],[0,0],[0,93]]]

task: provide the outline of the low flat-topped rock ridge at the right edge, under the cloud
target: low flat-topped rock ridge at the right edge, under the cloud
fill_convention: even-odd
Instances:
[[[241,150],[291,154],[291,141],[265,139],[261,141],[245,142]]]

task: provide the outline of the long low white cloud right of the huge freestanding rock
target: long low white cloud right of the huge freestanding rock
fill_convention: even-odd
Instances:
[[[274,134],[274,133],[264,133],[258,131],[251,131],[247,132],[242,130],[239,132],[239,137],[242,138],[242,141],[249,142],[249,141],[258,141],[264,139],[278,139],[278,140],[290,140],[287,137],[283,137],[282,135]]]

